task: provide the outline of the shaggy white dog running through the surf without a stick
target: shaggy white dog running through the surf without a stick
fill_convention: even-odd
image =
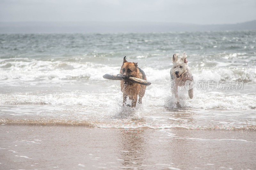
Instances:
[[[193,76],[188,67],[187,55],[184,52],[181,57],[178,57],[178,54],[173,54],[172,56],[172,69],[171,69],[171,83],[172,83],[172,94],[174,94],[177,103],[179,104],[179,96],[178,96],[178,86],[186,85],[186,89],[188,90],[188,96],[190,99],[193,98]],[[188,87],[189,86],[189,87]],[[187,88],[188,87],[188,88]],[[191,88],[192,87],[192,88]]]

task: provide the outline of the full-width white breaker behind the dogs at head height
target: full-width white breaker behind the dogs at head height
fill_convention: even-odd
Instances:
[[[221,64],[219,62],[219,64]],[[118,74],[120,66],[92,62],[42,61],[28,58],[1,59],[0,80],[10,81],[66,81],[103,80],[102,76]],[[170,81],[170,68],[142,68],[152,83]],[[243,81],[256,82],[256,67],[232,68],[197,66],[191,67],[195,81]]]

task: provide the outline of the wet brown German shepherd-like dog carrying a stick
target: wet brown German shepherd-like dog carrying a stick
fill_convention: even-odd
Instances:
[[[127,79],[129,77],[135,77],[147,80],[144,71],[138,67],[138,63],[127,62],[125,57],[120,73],[123,74],[123,76],[125,76]],[[121,80],[121,91],[123,92],[123,106],[126,104],[127,96],[130,100],[132,100],[132,107],[136,106],[138,95],[139,103],[141,104],[141,99],[145,94],[145,90],[146,85],[132,83],[128,80]]]

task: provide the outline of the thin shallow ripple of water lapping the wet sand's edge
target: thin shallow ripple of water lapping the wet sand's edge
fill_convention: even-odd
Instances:
[[[225,126],[225,125],[212,125],[212,126],[196,126],[196,125],[149,125],[149,124],[125,124],[125,123],[104,123],[96,121],[78,121],[71,119],[51,119],[51,118],[41,118],[41,119],[9,119],[0,118],[0,125],[44,125],[44,126],[85,126],[88,128],[114,128],[114,129],[191,129],[191,130],[256,130],[255,125],[246,126]]]

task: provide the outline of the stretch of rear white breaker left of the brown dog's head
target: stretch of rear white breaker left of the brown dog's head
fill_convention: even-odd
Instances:
[[[63,61],[38,61],[34,59],[23,59],[26,61],[17,60],[2,59],[0,67],[4,69],[1,70],[0,80],[99,80],[102,79],[102,75],[106,74],[106,70],[108,70],[110,74],[117,74],[119,70],[119,67],[90,62],[74,63]]]

